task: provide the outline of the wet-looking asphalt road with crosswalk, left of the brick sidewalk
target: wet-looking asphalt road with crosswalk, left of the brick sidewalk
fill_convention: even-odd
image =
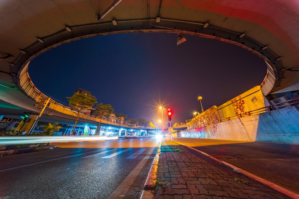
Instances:
[[[158,148],[149,138],[56,145],[1,157],[0,198],[140,198]]]

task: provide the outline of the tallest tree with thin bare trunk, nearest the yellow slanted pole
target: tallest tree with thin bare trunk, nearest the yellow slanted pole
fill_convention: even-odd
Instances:
[[[77,121],[80,116],[80,112],[83,109],[91,109],[91,107],[97,103],[97,99],[94,96],[89,96],[87,94],[82,94],[82,93],[74,93],[73,96],[71,97],[66,97],[70,103],[71,106],[74,106],[75,108],[78,109],[78,115],[77,119],[74,125],[74,129],[71,133],[71,136],[74,134],[75,127],[77,125]]]

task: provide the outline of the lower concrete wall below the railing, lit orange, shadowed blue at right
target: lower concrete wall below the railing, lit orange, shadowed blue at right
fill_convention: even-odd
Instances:
[[[182,132],[182,137],[299,144],[299,105]]]

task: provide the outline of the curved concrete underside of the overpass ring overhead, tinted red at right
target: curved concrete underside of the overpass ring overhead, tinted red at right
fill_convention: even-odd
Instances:
[[[0,83],[11,87],[1,87],[1,99],[21,103],[20,69],[38,54],[80,38],[134,32],[182,32],[244,47],[273,68],[266,94],[299,90],[297,0],[118,0],[98,21],[113,2],[1,1]]]

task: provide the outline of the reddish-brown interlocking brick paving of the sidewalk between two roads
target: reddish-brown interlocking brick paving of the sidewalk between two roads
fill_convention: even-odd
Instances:
[[[182,152],[160,153],[155,198],[288,198],[200,152],[176,148]]]

